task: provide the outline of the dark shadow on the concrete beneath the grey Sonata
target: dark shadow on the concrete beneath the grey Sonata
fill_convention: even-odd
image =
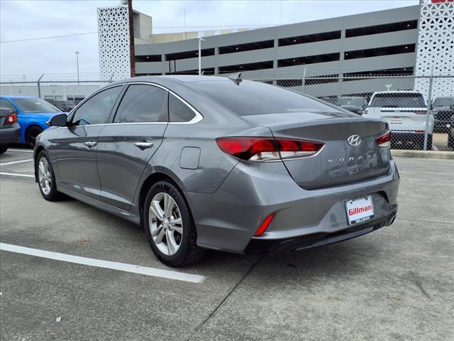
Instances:
[[[111,230],[112,235],[130,234],[131,241],[143,240],[147,243],[143,227],[133,224],[121,217],[100,211],[83,202],[74,200],[80,208],[102,220],[104,229]],[[67,204],[74,205],[68,202]],[[377,232],[375,232],[377,233]],[[378,232],[380,233],[380,232]],[[241,276],[248,274],[258,276],[268,285],[281,285],[286,281],[308,281],[313,278],[343,278],[370,271],[368,263],[380,255],[380,239],[374,234],[367,234],[338,244],[331,244],[301,251],[278,251],[266,254],[231,254],[223,251],[206,250],[204,258],[195,264],[189,264],[177,271],[194,272],[205,276]],[[141,244],[141,243],[140,243]],[[146,247],[148,250],[148,245]],[[148,250],[150,251],[150,250]],[[153,252],[146,256],[154,257]],[[170,268],[169,268],[170,269]]]

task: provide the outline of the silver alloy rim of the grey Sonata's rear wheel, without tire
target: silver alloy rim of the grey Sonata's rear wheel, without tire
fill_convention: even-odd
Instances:
[[[150,202],[148,222],[157,249],[166,256],[176,254],[183,237],[182,216],[177,202],[167,193],[157,193]]]

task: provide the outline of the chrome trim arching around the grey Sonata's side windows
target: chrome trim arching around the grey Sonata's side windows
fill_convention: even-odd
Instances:
[[[181,124],[181,125],[186,125],[186,124],[196,124],[196,123],[199,123],[202,119],[204,119],[204,116],[197,109],[192,107],[192,105],[189,104],[185,99],[180,97],[179,94],[176,94],[172,90],[167,89],[167,87],[164,87],[160,84],[153,83],[153,82],[124,82],[121,84],[111,85],[109,87],[103,87],[102,89],[99,89],[98,91],[91,94],[89,97],[84,98],[84,100],[82,102],[77,104],[77,106],[71,110],[71,112],[68,114],[68,117],[72,114],[72,112],[75,112],[82,104],[87,102],[90,98],[94,97],[96,94],[99,94],[100,92],[103,92],[104,90],[111,89],[112,87],[123,87],[126,85],[150,85],[152,87],[159,87],[160,89],[165,90],[165,91],[169,92],[170,94],[173,94],[175,97],[177,97],[177,99],[179,99],[187,107],[189,107],[189,109],[191,109],[192,112],[194,112],[194,114],[196,116],[187,122],[171,122],[171,121],[167,121],[167,122],[117,122],[117,123],[109,122],[109,123],[104,123],[104,124],[86,124],[87,126],[106,126],[106,125],[113,126],[113,125],[119,125],[119,124]],[[169,119],[170,119],[170,117],[169,117]]]

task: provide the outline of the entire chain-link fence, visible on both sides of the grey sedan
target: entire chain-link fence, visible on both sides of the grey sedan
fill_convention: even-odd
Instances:
[[[304,92],[363,117],[387,121],[393,133],[392,148],[454,150],[452,75],[336,75],[253,80]],[[41,97],[67,111],[112,81],[114,77],[101,80],[99,75],[91,74],[83,75],[79,80],[74,80],[74,75],[36,75],[14,79],[1,77],[0,93]]]

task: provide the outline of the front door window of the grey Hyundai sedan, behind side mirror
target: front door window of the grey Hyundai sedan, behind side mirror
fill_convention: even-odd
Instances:
[[[121,89],[121,86],[111,87],[95,94],[77,109],[74,117],[72,117],[72,124],[74,126],[85,126],[107,123]]]

